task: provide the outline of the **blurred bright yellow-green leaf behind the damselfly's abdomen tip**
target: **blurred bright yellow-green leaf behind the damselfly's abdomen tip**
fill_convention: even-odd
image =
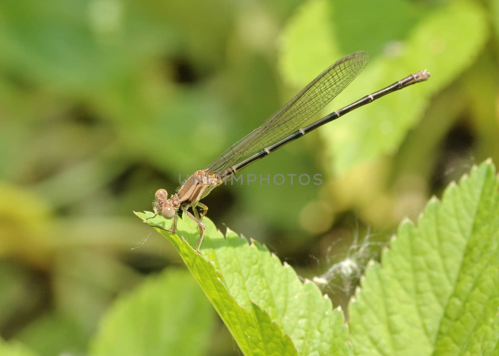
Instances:
[[[323,0],[305,3],[284,32],[280,66],[284,76],[295,85],[305,85],[346,54],[340,54],[338,48],[340,36],[348,36],[348,31],[334,33],[331,20],[325,19],[324,13],[331,6]],[[335,16],[345,14],[335,12]],[[316,22],[311,20],[313,17]],[[372,57],[364,72],[325,111],[334,111],[418,70],[426,68],[432,77],[321,128],[325,146],[334,157],[333,170],[344,172],[357,163],[395,152],[418,122],[431,96],[454,80],[480,53],[488,38],[486,23],[486,14],[475,3],[449,2],[420,16],[405,39],[391,43],[383,54]],[[369,32],[372,28],[359,30]],[[313,54],[304,56],[309,44],[315,48]]]

